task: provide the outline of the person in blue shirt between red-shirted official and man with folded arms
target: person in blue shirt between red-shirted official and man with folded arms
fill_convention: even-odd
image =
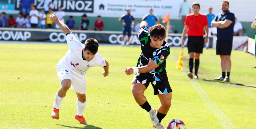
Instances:
[[[209,32],[208,32],[208,42],[205,44],[205,48],[209,48],[209,42],[210,42],[210,36],[212,34],[216,35],[217,34],[217,28],[211,26],[212,20],[214,20],[215,15],[212,13],[212,7],[209,8],[209,13],[206,14],[207,20],[208,20],[208,27],[209,27]]]

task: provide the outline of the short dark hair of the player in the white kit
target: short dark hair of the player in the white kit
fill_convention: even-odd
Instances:
[[[99,42],[94,38],[85,40],[84,50],[89,50],[91,53],[96,54],[99,48]]]

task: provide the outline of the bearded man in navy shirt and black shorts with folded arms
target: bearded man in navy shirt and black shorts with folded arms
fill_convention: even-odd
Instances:
[[[232,51],[235,16],[229,12],[229,2],[227,0],[223,0],[221,5],[223,12],[216,15],[214,21],[211,23],[212,27],[217,27],[216,54],[221,56],[222,69],[222,76],[215,78],[215,80],[229,82],[231,69],[230,55]]]

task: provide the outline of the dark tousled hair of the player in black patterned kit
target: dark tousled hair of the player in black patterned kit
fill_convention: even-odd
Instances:
[[[165,26],[157,24],[151,27],[150,36],[152,38],[162,39],[166,36]]]

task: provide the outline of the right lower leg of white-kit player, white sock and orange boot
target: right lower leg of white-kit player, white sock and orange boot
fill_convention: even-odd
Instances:
[[[81,124],[88,124],[88,122],[85,120],[83,116],[83,112],[87,104],[86,96],[85,94],[80,94],[77,92],[76,92],[76,96],[77,96],[77,100],[76,100],[77,113],[75,114],[75,119],[79,121]]]

